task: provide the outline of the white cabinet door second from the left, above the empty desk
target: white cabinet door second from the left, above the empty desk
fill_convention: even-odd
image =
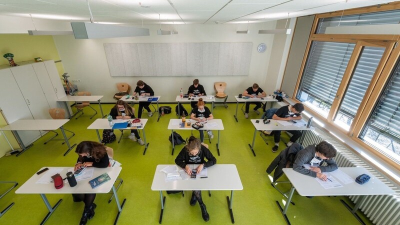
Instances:
[[[32,64],[14,66],[10,69],[33,118],[50,119],[51,117],[48,114],[50,106],[47,103]]]

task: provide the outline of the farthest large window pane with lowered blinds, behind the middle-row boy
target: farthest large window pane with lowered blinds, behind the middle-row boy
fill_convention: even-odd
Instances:
[[[326,118],[354,46],[312,41],[296,98]]]

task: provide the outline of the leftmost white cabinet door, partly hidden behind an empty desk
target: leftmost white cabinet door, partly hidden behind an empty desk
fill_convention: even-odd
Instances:
[[[9,68],[0,69],[0,109],[8,123],[18,119],[33,119],[29,107]],[[40,136],[38,130],[17,132],[24,145],[28,145]]]

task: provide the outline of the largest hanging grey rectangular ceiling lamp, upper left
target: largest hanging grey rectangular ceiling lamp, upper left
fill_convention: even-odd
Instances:
[[[125,36],[149,36],[147,28],[120,26],[92,22],[71,22],[75,39],[93,39]]]

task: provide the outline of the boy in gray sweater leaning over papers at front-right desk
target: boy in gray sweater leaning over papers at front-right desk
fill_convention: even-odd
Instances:
[[[334,156],[336,156],[336,149],[326,141],[321,141],[316,145],[308,145],[297,152],[293,162],[293,170],[326,181],[327,177],[323,172],[337,169]],[[326,162],[327,165],[321,166],[323,162]],[[309,164],[310,169],[305,168],[304,164]]]

